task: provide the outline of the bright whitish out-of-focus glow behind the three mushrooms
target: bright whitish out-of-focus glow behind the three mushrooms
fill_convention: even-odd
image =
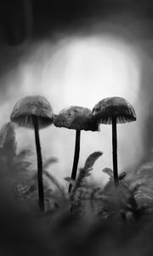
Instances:
[[[56,44],[42,42],[35,45],[21,62],[14,79],[10,76],[11,84],[18,89],[14,98],[11,97],[8,110],[20,96],[31,94],[46,96],[54,113],[70,105],[92,109],[106,96],[125,97],[133,104],[138,121],[118,125],[118,163],[119,172],[122,172],[137,165],[143,154],[143,142],[139,139],[144,121],[143,115],[139,119],[140,69],[141,61],[134,46],[111,35],[68,37]],[[12,90],[8,90],[8,95],[12,95]],[[59,159],[59,163],[51,166],[50,172],[59,180],[70,176],[75,131],[52,125],[41,131],[41,138],[43,154]],[[18,129],[17,140],[18,150],[31,145],[35,150],[32,131]],[[83,166],[89,154],[98,150],[104,155],[95,164],[93,178],[104,183],[105,174],[102,175],[101,171],[105,166],[112,167],[111,125],[101,125],[101,132],[82,131],[79,166]]]

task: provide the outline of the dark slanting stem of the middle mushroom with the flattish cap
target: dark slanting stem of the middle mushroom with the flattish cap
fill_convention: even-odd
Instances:
[[[77,176],[77,165],[79,160],[79,154],[80,154],[80,137],[81,137],[81,130],[76,130],[76,145],[75,145],[75,154],[74,154],[74,160],[73,160],[73,167],[71,171],[71,179],[76,180]],[[71,193],[72,185],[70,183],[68,192]]]

